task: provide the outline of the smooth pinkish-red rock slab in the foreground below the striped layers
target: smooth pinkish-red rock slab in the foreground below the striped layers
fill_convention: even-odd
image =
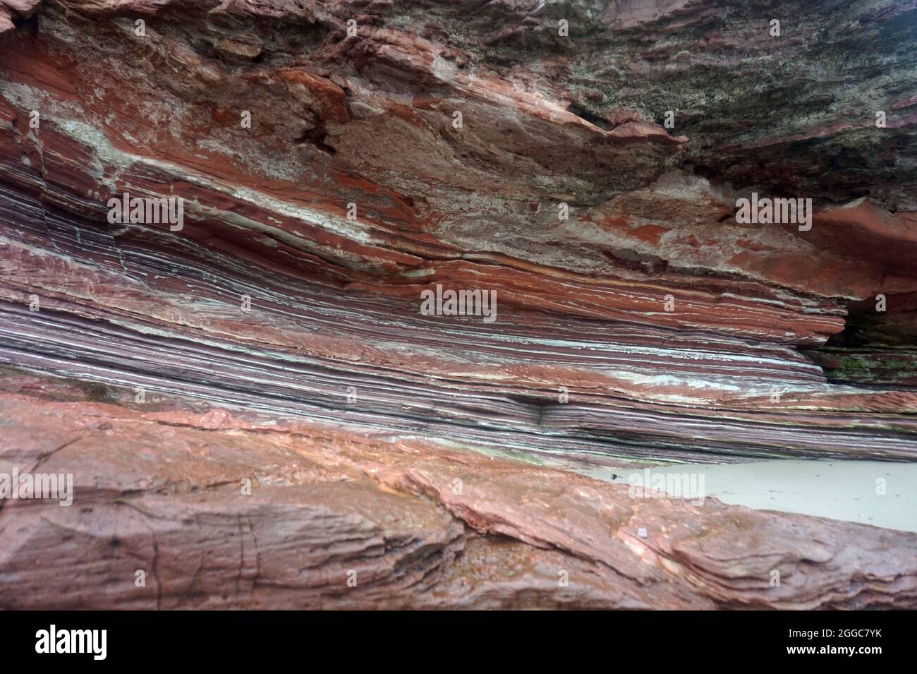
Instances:
[[[429,442],[219,411],[4,392],[0,427],[0,466],[73,470],[79,493],[79,507],[14,501],[0,513],[0,582],[17,588],[4,608],[917,604],[915,534],[635,499],[625,485]]]

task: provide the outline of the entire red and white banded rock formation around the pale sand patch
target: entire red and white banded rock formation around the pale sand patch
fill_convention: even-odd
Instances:
[[[0,472],[73,475],[4,608],[917,606],[917,535],[576,472],[917,459],[917,3],[0,32]]]

